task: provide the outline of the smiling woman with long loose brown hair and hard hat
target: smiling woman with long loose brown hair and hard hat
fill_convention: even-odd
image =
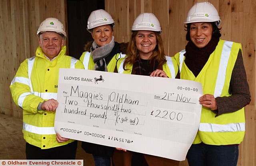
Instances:
[[[129,42],[127,56],[118,61],[118,72],[175,78],[178,72],[178,65],[173,58],[164,54],[164,45],[160,35],[162,28],[156,16],[152,13],[140,14],[134,20],[131,30],[132,37]],[[124,149],[120,147],[118,150]],[[126,158],[132,158],[132,166],[179,165],[179,161],[176,160],[136,152],[126,152],[125,156]]]

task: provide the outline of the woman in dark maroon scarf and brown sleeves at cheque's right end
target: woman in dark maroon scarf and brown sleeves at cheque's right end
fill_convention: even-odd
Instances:
[[[220,17],[209,2],[196,3],[185,20],[186,49],[175,58],[180,78],[202,83],[202,114],[187,159],[190,166],[236,166],[250,103],[240,43],[220,39]]]

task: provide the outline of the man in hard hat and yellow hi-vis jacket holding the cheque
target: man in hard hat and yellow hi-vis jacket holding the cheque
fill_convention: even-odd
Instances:
[[[27,159],[75,159],[77,141],[54,131],[59,68],[81,68],[66,56],[66,32],[56,18],[46,18],[37,31],[36,56],[24,60],[12,80],[14,102],[23,109],[23,134]]]

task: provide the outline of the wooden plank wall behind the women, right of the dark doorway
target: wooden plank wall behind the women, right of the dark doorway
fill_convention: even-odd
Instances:
[[[222,39],[242,43],[244,65],[251,92],[246,106],[246,136],[240,145],[238,166],[256,166],[256,108],[255,108],[255,0],[105,0],[105,9],[116,21],[115,39],[128,42],[130,28],[141,12],[154,13],[162,26],[165,52],[173,56],[186,46],[184,20],[195,2],[211,2],[219,12]],[[188,166],[187,162],[180,166]]]

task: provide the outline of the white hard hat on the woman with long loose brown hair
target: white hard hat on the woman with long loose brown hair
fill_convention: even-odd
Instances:
[[[131,30],[151,30],[160,33],[162,32],[160,22],[153,13],[141,13],[138,15],[132,24]]]

